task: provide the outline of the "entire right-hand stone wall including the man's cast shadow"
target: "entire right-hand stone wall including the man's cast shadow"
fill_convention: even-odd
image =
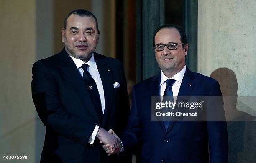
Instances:
[[[198,72],[220,83],[230,163],[256,161],[255,67],[256,1],[198,0]]]

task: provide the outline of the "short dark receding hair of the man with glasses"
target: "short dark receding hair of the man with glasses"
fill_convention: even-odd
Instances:
[[[165,25],[162,25],[160,27],[158,27],[155,32],[154,32],[154,35],[153,35],[153,47],[155,46],[155,37],[156,37],[156,33],[163,29],[163,28],[175,28],[179,31],[179,35],[180,35],[180,41],[183,43],[182,44],[182,49],[185,47],[185,44],[187,44],[187,35],[186,35],[186,32],[185,30],[180,27],[179,25],[174,25],[174,24],[165,24]]]

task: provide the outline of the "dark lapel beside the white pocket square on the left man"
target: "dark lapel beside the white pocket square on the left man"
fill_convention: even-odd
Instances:
[[[111,112],[111,104],[113,99],[113,76],[111,67],[108,66],[104,57],[100,54],[94,52],[95,62],[97,64],[98,71],[100,73],[100,78],[104,88],[104,98],[105,98],[105,109],[103,114],[102,126],[104,126],[107,121],[109,114]]]

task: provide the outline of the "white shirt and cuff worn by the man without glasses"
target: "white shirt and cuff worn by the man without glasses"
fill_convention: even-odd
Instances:
[[[105,97],[104,97],[104,89],[103,89],[103,84],[100,78],[100,73],[98,71],[95,59],[94,59],[94,54],[92,53],[92,57],[90,58],[90,60],[88,62],[84,62],[81,59],[77,59],[72,57],[71,55],[69,55],[72,60],[74,61],[74,64],[77,66],[78,71],[80,72],[82,78],[83,78],[83,74],[84,74],[84,70],[81,68],[81,66],[86,63],[89,66],[87,67],[87,71],[90,73],[90,75],[92,76],[92,78],[94,79],[96,85],[97,85],[97,89],[98,92],[100,94],[100,102],[101,102],[101,108],[102,108],[102,113],[104,114],[104,109],[105,109]],[[89,138],[88,143],[93,144],[97,131],[99,129],[100,126],[96,125],[91,137]]]

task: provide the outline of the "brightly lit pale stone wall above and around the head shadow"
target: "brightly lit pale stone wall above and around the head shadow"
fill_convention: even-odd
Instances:
[[[256,96],[256,1],[198,1],[198,72],[236,74],[239,96]]]

